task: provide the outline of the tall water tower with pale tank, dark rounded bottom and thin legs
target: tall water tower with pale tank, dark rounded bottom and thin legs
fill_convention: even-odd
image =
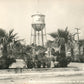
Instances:
[[[46,41],[45,15],[32,15],[31,44],[44,46]]]

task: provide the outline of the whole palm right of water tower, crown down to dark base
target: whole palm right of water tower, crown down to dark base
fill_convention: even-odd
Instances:
[[[50,36],[54,38],[54,45],[58,45],[60,49],[59,56],[57,57],[57,61],[59,62],[58,66],[66,67],[68,60],[65,48],[66,44],[71,44],[70,42],[72,42],[69,31],[67,31],[67,28],[65,30],[58,29],[57,32],[51,33]]]

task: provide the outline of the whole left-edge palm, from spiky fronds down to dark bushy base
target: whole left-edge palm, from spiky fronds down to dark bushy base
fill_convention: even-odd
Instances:
[[[10,48],[11,43],[14,42],[14,39],[16,37],[16,33],[13,34],[13,29],[9,31],[9,33],[6,33],[4,30],[0,30],[0,44],[3,46],[2,48],[2,57],[0,58],[0,61],[3,60],[3,62],[0,62],[0,68],[8,68],[9,65],[12,62],[15,62],[15,59],[8,57],[8,48]]]

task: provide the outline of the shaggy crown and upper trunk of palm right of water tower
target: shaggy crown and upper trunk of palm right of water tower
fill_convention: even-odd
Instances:
[[[55,45],[58,44],[60,47],[60,53],[65,53],[65,46],[68,43],[69,40],[69,32],[67,31],[67,28],[65,30],[58,29],[57,32],[51,33],[50,36],[52,36],[55,40]]]

